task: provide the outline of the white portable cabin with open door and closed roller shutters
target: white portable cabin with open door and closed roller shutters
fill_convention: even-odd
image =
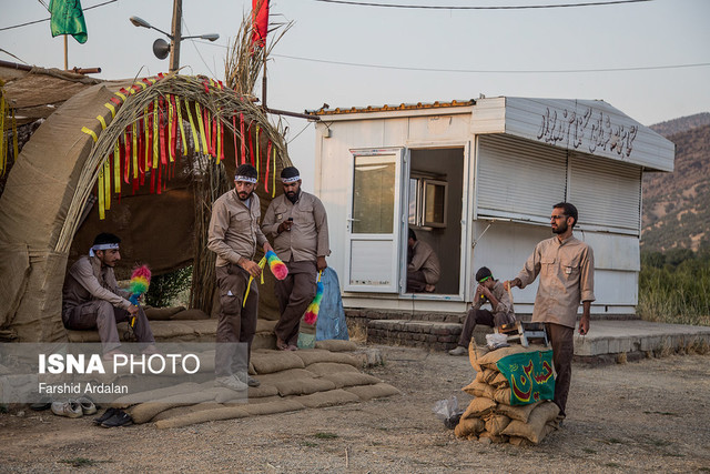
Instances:
[[[320,109],[315,192],[345,307],[463,312],[488,266],[517,275],[551,236],[552,205],[579,211],[595,252],[592,313],[636,310],[641,175],[672,171],[674,145],[597,100],[481,98]],[[434,293],[406,293],[407,228],[442,263]],[[532,312],[535,284],[514,290]]]

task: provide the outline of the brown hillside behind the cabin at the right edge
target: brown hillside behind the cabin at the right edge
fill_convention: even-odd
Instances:
[[[710,113],[651,129],[676,143],[676,169],[643,177],[641,249],[710,245]]]

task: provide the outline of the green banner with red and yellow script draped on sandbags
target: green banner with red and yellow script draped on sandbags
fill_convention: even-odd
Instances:
[[[528,405],[555,397],[552,351],[508,355],[496,365],[510,384],[510,405]]]

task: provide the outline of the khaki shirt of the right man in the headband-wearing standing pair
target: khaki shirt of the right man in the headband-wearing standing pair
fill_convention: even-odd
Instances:
[[[291,231],[278,233],[278,225],[293,218]],[[262,231],[273,238],[274,251],[288,262],[315,262],[318,256],[331,254],[328,220],[318,198],[301,191],[292,203],[285,194],[276,196],[264,215]]]

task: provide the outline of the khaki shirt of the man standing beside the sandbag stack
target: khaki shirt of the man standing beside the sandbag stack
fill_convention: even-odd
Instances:
[[[589,245],[574,236],[559,242],[544,240],[518,274],[525,288],[537,275],[540,283],[532,310],[534,322],[575,327],[581,301],[595,301],[595,255]]]

